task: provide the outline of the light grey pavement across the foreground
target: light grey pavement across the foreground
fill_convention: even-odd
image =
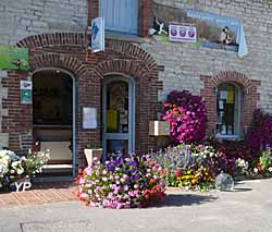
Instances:
[[[99,209],[79,202],[0,208],[0,231],[271,232],[272,179],[240,182],[235,192],[169,193],[148,209]]]

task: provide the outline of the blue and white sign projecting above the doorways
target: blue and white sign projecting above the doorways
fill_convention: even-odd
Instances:
[[[104,51],[104,19],[96,17],[91,21],[91,44],[92,52]]]

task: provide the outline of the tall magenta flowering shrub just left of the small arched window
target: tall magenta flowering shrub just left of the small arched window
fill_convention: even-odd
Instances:
[[[163,103],[162,119],[171,124],[171,137],[175,143],[194,143],[206,135],[207,113],[201,97],[187,90],[173,90]]]

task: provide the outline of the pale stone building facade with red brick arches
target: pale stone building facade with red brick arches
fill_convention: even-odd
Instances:
[[[245,28],[249,53],[240,59],[234,51],[148,36],[154,4],[238,17]],[[224,83],[239,86],[239,134],[243,136],[257,106],[272,112],[270,7],[267,1],[248,4],[246,0],[139,0],[138,35],[107,34],[106,51],[91,53],[87,50],[86,27],[91,19],[99,16],[99,0],[1,1],[0,44],[29,48],[30,71],[0,70],[0,144],[17,152],[33,146],[33,106],[20,103],[20,80],[32,80],[33,74],[45,69],[64,70],[74,77],[75,167],[85,164],[84,148],[103,146],[101,89],[104,78],[112,74],[132,77],[135,83],[136,150],[146,151],[157,146],[157,138],[148,135],[147,124],[158,119],[160,102],[172,89],[187,89],[203,96],[208,134],[214,135],[214,89]],[[96,130],[82,126],[86,106],[98,110]]]

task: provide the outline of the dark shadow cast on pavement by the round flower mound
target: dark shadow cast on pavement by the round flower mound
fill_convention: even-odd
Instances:
[[[166,199],[162,204],[162,207],[200,205],[217,199],[217,197],[211,195],[207,196],[196,194],[170,194],[166,196]]]

